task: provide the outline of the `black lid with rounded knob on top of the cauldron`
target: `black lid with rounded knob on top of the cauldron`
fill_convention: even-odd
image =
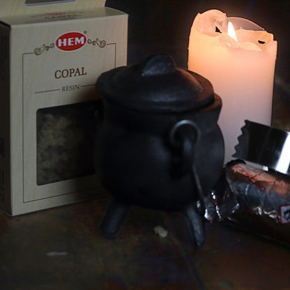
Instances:
[[[177,68],[168,54],[102,73],[96,89],[107,102],[143,112],[185,112],[214,101],[211,82]]]

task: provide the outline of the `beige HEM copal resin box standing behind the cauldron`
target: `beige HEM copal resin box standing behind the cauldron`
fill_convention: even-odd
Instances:
[[[11,215],[101,194],[95,83],[126,64],[128,29],[104,3],[0,0],[0,207]]]

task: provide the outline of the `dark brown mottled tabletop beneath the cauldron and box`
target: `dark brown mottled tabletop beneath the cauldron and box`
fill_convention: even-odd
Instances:
[[[108,201],[0,212],[0,289],[290,289],[290,247],[221,223],[206,224],[206,245],[194,249],[180,213],[139,207],[104,238]]]

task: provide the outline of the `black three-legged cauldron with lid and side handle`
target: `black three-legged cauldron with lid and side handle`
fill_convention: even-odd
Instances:
[[[113,196],[102,233],[116,235],[135,204],[183,212],[201,246],[204,195],[214,188],[224,160],[217,125],[222,102],[211,83],[156,54],[102,73],[96,89],[104,107],[96,169]]]

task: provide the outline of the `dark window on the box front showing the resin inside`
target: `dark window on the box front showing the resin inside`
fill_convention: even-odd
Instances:
[[[38,185],[95,173],[93,156],[98,112],[98,101],[38,109]]]

